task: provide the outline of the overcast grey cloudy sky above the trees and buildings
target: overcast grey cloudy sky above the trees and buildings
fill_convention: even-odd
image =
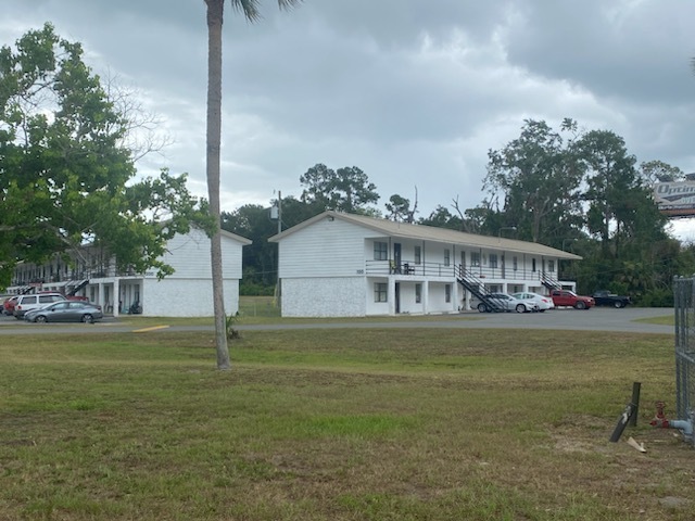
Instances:
[[[227,4],[223,209],[299,195],[316,163],[362,168],[380,209],[482,200],[488,151],[526,118],[622,136],[639,162],[695,171],[692,0],[305,0]],[[51,22],[100,75],[137,90],[172,140],[140,171],[206,193],[203,0],[2,0],[0,45]]]

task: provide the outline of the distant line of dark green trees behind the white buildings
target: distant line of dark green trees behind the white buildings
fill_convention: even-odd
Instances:
[[[528,119],[518,138],[490,150],[488,158],[480,204],[460,208],[455,198],[427,217],[416,217],[417,189],[414,201],[392,194],[382,212],[377,187],[363,170],[314,165],[299,179],[300,198],[281,200],[281,228],[334,209],[469,233],[504,232],[581,255],[581,262],[563,262],[559,274],[577,280],[580,292],[608,289],[646,306],[671,305],[673,277],[695,272],[693,244],[669,236],[669,219],[652,196],[654,182],[682,180],[683,173],[660,161],[637,166],[615,132],[580,130],[570,118],[559,130]],[[253,241],[244,249],[243,294],[275,289],[277,244],[267,239],[278,232],[270,218],[277,204],[223,213],[223,229]]]

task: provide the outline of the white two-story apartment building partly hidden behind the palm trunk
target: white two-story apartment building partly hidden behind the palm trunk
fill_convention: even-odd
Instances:
[[[242,249],[249,239],[222,232],[225,310],[239,309]],[[177,234],[166,244],[162,260],[174,274],[159,280],[154,270],[118,272],[112,255],[85,246],[43,265],[20,264],[8,288],[10,293],[59,291],[86,296],[108,314],[132,312],[153,317],[210,317],[214,315],[210,238],[199,229]]]

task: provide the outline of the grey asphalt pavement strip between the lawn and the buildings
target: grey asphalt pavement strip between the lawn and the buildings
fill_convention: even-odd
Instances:
[[[456,316],[444,316],[441,320],[428,317],[427,320],[417,316],[401,317],[396,321],[378,321],[369,318],[356,318],[354,321],[318,320],[314,323],[264,323],[243,325],[237,323],[240,331],[280,330],[280,329],[350,329],[350,328],[484,328],[484,329],[548,329],[560,331],[624,331],[633,333],[661,333],[673,334],[673,326],[658,326],[636,321],[641,318],[672,316],[672,308],[649,307],[595,307],[587,310],[572,308],[557,308],[545,313],[462,313]],[[60,333],[116,333],[134,331],[210,331],[211,326],[172,326],[162,329],[141,328],[134,326],[128,320],[106,317],[102,321],[71,325],[28,323],[16,320],[14,317],[0,316],[0,336],[12,334],[60,334]]]

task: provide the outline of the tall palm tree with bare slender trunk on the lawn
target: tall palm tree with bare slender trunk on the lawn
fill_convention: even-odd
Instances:
[[[261,17],[258,0],[229,0],[231,7],[241,11],[249,22]],[[278,0],[280,9],[290,8],[302,0]],[[207,128],[206,175],[210,213],[215,223],[211,237],[211,264],[213,277],[213,306],[215,313],[215,343],[217,369],[228,370],[229,346],[227,345],[227,317],[222,269],[222,236],[219,209],[219,149],[222,141],[222,23],[225,0],[205,0],[207,5]]]

